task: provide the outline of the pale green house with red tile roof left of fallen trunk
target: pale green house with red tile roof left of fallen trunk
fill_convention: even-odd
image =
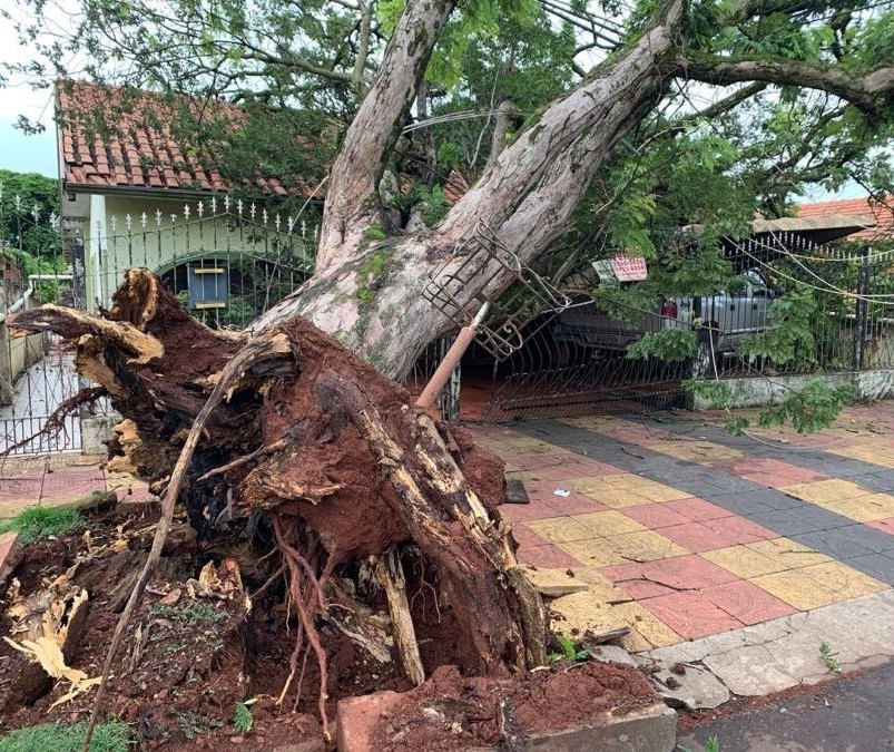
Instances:
[[[145,266],[206,320],[245,325],[312,271],[312,213],[232,197],[214,159],[169,126],[186,111],[238,128],[238,107],[87,81],[58,81],[56,97],[62,227],[88,310],[108,306],[125,272]],[[322,206],[324,189],[294,183],[262,176],[252,188]],[[444,195],[452,203],[468,189],[453,172]]]

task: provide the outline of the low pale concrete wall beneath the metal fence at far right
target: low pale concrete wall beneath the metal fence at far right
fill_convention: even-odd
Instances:
[[[813,373],[808,375],[753,377],[723,379],[733,408],[763,408],[779,404],[793,391],[803,389],[808,381],[822,381],[829,387],[853,384],[857,400],[875,401],[894,397],[894,368],[880,368],[854,373]],[[687,397],[690,410],[717,410],[725,407],[709,394],[691,393]]]

